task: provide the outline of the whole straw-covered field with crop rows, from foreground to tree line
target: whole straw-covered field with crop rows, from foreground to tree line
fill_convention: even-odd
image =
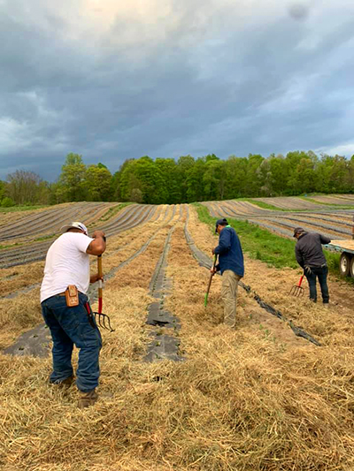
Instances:
[[[339,204],[340,196],[328,198]],[[74,386],[48,384],[50,357],[0,354],[1,469],[353,469],[352,287],[331,276],[328,310],[312,305],[307,292],[302,299],[289,297],[300,275],[290,260],[292,228],[350,238],[352,209],[345,199],[342,209],[322,204],[328,201],[261,200],[263,208],[257,201],[201,207],[70,203],[0,216],[2,351],[42,323],[44,257],[60,225],[75,219],[108,235],[104,312],[116,329],[103,331],[100,399],[84,411],[75,405]],[[204,308],[209,272],[200,263],[207,265],[218,240],[204,209],[213,220],[233,217],[273,232],[269,241],[256,236],[254,226],[240,232],[242,282],[249,289],[239,288],[235,331],[220,324],[220,277],[214,277]],[[288,322],[266,312],[257,297]],[[181,327],[147,325],[153,302]],[[296,337],[290,321],[321,346]],[[166,334],[178,339],[181,361],[158,355],[142,361],[151,338]]]

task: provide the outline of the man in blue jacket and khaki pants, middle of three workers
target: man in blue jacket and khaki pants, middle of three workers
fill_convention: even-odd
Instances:
[[[235,229],[227,223],[227,219],[219,219],[216,222],[215,233],[219,234],[219,245],[212,249],[212,254],[219,255],[219,263],[211,272],[221,272],[224,323],[235,329],[237,286],[244,275],[242,247]]]

